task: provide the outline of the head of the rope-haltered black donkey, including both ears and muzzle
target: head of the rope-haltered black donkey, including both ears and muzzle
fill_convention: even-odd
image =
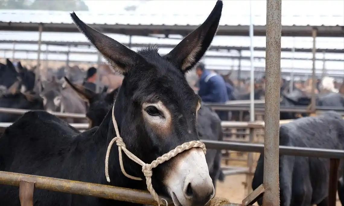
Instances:
[[[159,55],[157,47],[133,52],[72,14],[80,31],[125,76],[114,113],[127,149],[144,162],[150,163],[184,142],[199,140],[196,114],[201,100],[184,74],[197,64],[211,44],[221,11],[222,2],[218,1],[205,22],[165,56]],[[140,174],[130,163],[125,162],[127,172]],[[186,150],[160,164],[153,169],[152,181],[155,190],[168,193],[175,205],[204,205],[214,196],[200,148]]]

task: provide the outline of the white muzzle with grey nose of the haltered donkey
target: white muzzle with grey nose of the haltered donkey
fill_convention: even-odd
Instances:
[[[178,156],[172,160],[173,168],[164,180],[174,205],[205,205],[215,190],[203,150],[192,148]]]

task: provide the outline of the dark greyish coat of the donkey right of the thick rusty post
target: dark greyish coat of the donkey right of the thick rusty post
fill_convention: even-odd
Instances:
[[[327,112],[282,125],[280,145],[343,150],[344,120],[334,112]],[[262,158],[261,155],[257,163],[253,189],[263,182]],[[327,205],[329,165],[329,159],[325,158],[281,156],[281,206]],[[339,172],[342,174],[343,171]]]

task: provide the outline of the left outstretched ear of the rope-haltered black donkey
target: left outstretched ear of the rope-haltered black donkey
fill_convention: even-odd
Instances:
[[[120,73],[127,73],[135,64],[145,61],[140,55],[116,40],[87,26],[76,14],[71,13],[74,23],[88,40],[98,49],[111,66]]]

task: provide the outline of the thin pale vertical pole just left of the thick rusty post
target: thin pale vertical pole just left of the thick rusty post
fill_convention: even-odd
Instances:
[[[253,67],[253,22],[252,22],[252,1],[250,1],[250,60],[251,60],[251,79],[250,79],[250,121],[255,121],[255,69]]]

